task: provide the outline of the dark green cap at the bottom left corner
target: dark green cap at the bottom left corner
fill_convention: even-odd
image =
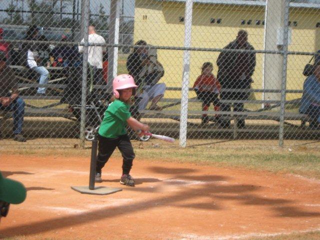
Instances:
[[[5,178],[0,173],[0,200],[18,204],[24,201],[26,189],[21,182]]]

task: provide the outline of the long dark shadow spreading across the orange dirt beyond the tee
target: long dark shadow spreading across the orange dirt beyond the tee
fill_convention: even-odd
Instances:
[[[149,167],[154,173],[165,173],[171,177],[159,180],[157,178],[137,178],[137,185],[146,184],[138,187],[125,187],[127,192],[144,191],[150,198],[141,198],[136,202],[129,202],[121,206],[106,206],[98,209],[72,214],[68,216],[52,217],[48,220],[38,220],[26,222],[23,225],[7,227],[2,229],[4,236],[29,235],[45,231],[53,231],[59,228],[71,227],[78,224],[88,224],[100,219],[110,219],[118,216],[125,216],[130,213],[152,210],[163,206],[177,206],[181,208],[206,209],[219,211],[226,209],[226,202],[234,201],[238,205],[264,205],[261,209],[277,217],[319,217],[318,211],[304,211],[300,207],[292,206],[295,203],[285,198],[273,198],[262,196],[260,190],[264,187],[252,184],[233,183],[235,177],[228,175],[187,175],[195,174],[196,169],[191,168],[165,168],[161,166]],[[8,174],[8,173],[7,173]],[[119,179],[104,180],[118,181]],[[228,182],[233,180],[233,182]],[[31,230],[30,230],[31,229]]]

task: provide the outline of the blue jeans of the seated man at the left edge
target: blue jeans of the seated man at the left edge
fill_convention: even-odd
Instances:
[[[23,115],[24,115],[24,101],[22,98],[17,97],[8,106],[2,106],[0,108],[4,111],[13,111],[13,133],[19,134],[22,131]]]

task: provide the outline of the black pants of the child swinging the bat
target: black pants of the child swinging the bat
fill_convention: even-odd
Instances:
[[[123,157],[122,174],[129,174],[132,161],[135,157],[130,139],[127,134],[115,138],[106,138],[98,135],[98,156],[96,159],[96,172],[101,173],[101,169],[108,161],[115,147],[121,152]]]

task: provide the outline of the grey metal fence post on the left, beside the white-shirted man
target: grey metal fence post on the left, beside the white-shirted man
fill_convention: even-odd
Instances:
[[[84,148],[85,141],[85,105],[86,105],[86,80],[87,80],[87,61],[88,61],[88,26],[89,26],[89,7],[90,0],[84,0],[81,7],[84,8],[83,16],[83,33],[84,33],[84,46],[83,46],[83,62],[82,62],[82,88],[81,88],[81,120],[80,120],[80,148]]]

